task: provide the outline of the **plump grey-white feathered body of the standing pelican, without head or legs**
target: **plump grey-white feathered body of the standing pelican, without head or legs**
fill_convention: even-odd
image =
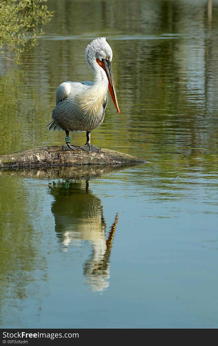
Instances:
[[[108,94],[93,82],[63,82],[56,91],[56,107],[49,130],[91,131],[105,116]]]

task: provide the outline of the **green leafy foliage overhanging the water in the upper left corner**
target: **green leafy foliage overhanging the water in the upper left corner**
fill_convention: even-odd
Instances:
[[[43,34],[37,26],[47,24],[52,17],[48,7],[41,2],[47,0],[4,0],[0,2],[0,56],[5,56],[6,47],[14,51],[13,61],[20,63],[20,54],[37,44]],[[10,59],[9,59],[10,60]]]

